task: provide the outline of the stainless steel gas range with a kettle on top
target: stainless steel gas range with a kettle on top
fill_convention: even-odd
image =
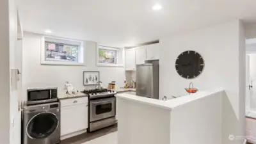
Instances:
[[[88,132],[102,129],[116,122],[116,92],[108,89],[84,90],[89,95]]]

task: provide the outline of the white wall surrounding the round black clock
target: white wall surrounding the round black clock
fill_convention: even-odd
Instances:
[[[227,129],[223,133],[225,144],[241,142],[229,141],[228,132],[234,135],[244,133],[241,118],[245,109],[245,44],[243,33],[240,31],[243,30],[241,25],[239,20],[234,20],[160,39],[159,99],[164,95],[169,98],[172,95],[186,95],[184,88],[189,87],[189,82],[193,82],[198,90],[223,87],[228,96],[227,102],[233,111],[223,113],[224,120],[231,120],[230,125],[223,126],[223,129]],[[204,71],[195,79],[184,79],[175,70],[177,56],[188,50],[199,52],[205,61]]]

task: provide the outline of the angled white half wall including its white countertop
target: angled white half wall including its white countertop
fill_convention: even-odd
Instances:
[[[230,121],[222,111],[233,113],[221,88],[167,101],[126,93],[116,97],[118,143],[226,144],[223,125]]]

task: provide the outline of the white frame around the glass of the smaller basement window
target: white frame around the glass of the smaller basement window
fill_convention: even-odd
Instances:
[[[116,56],[116,64],[99,63],[99,49],[107,49],[107,50],[118,51],[117,56]],[[121,61],[121,63],[118,63],[120,61]],[[107,46],[104,46],[104,45],[97,45],[96,65],[99,66],[99,67],[124,67],[124,48],[107,47]]]

